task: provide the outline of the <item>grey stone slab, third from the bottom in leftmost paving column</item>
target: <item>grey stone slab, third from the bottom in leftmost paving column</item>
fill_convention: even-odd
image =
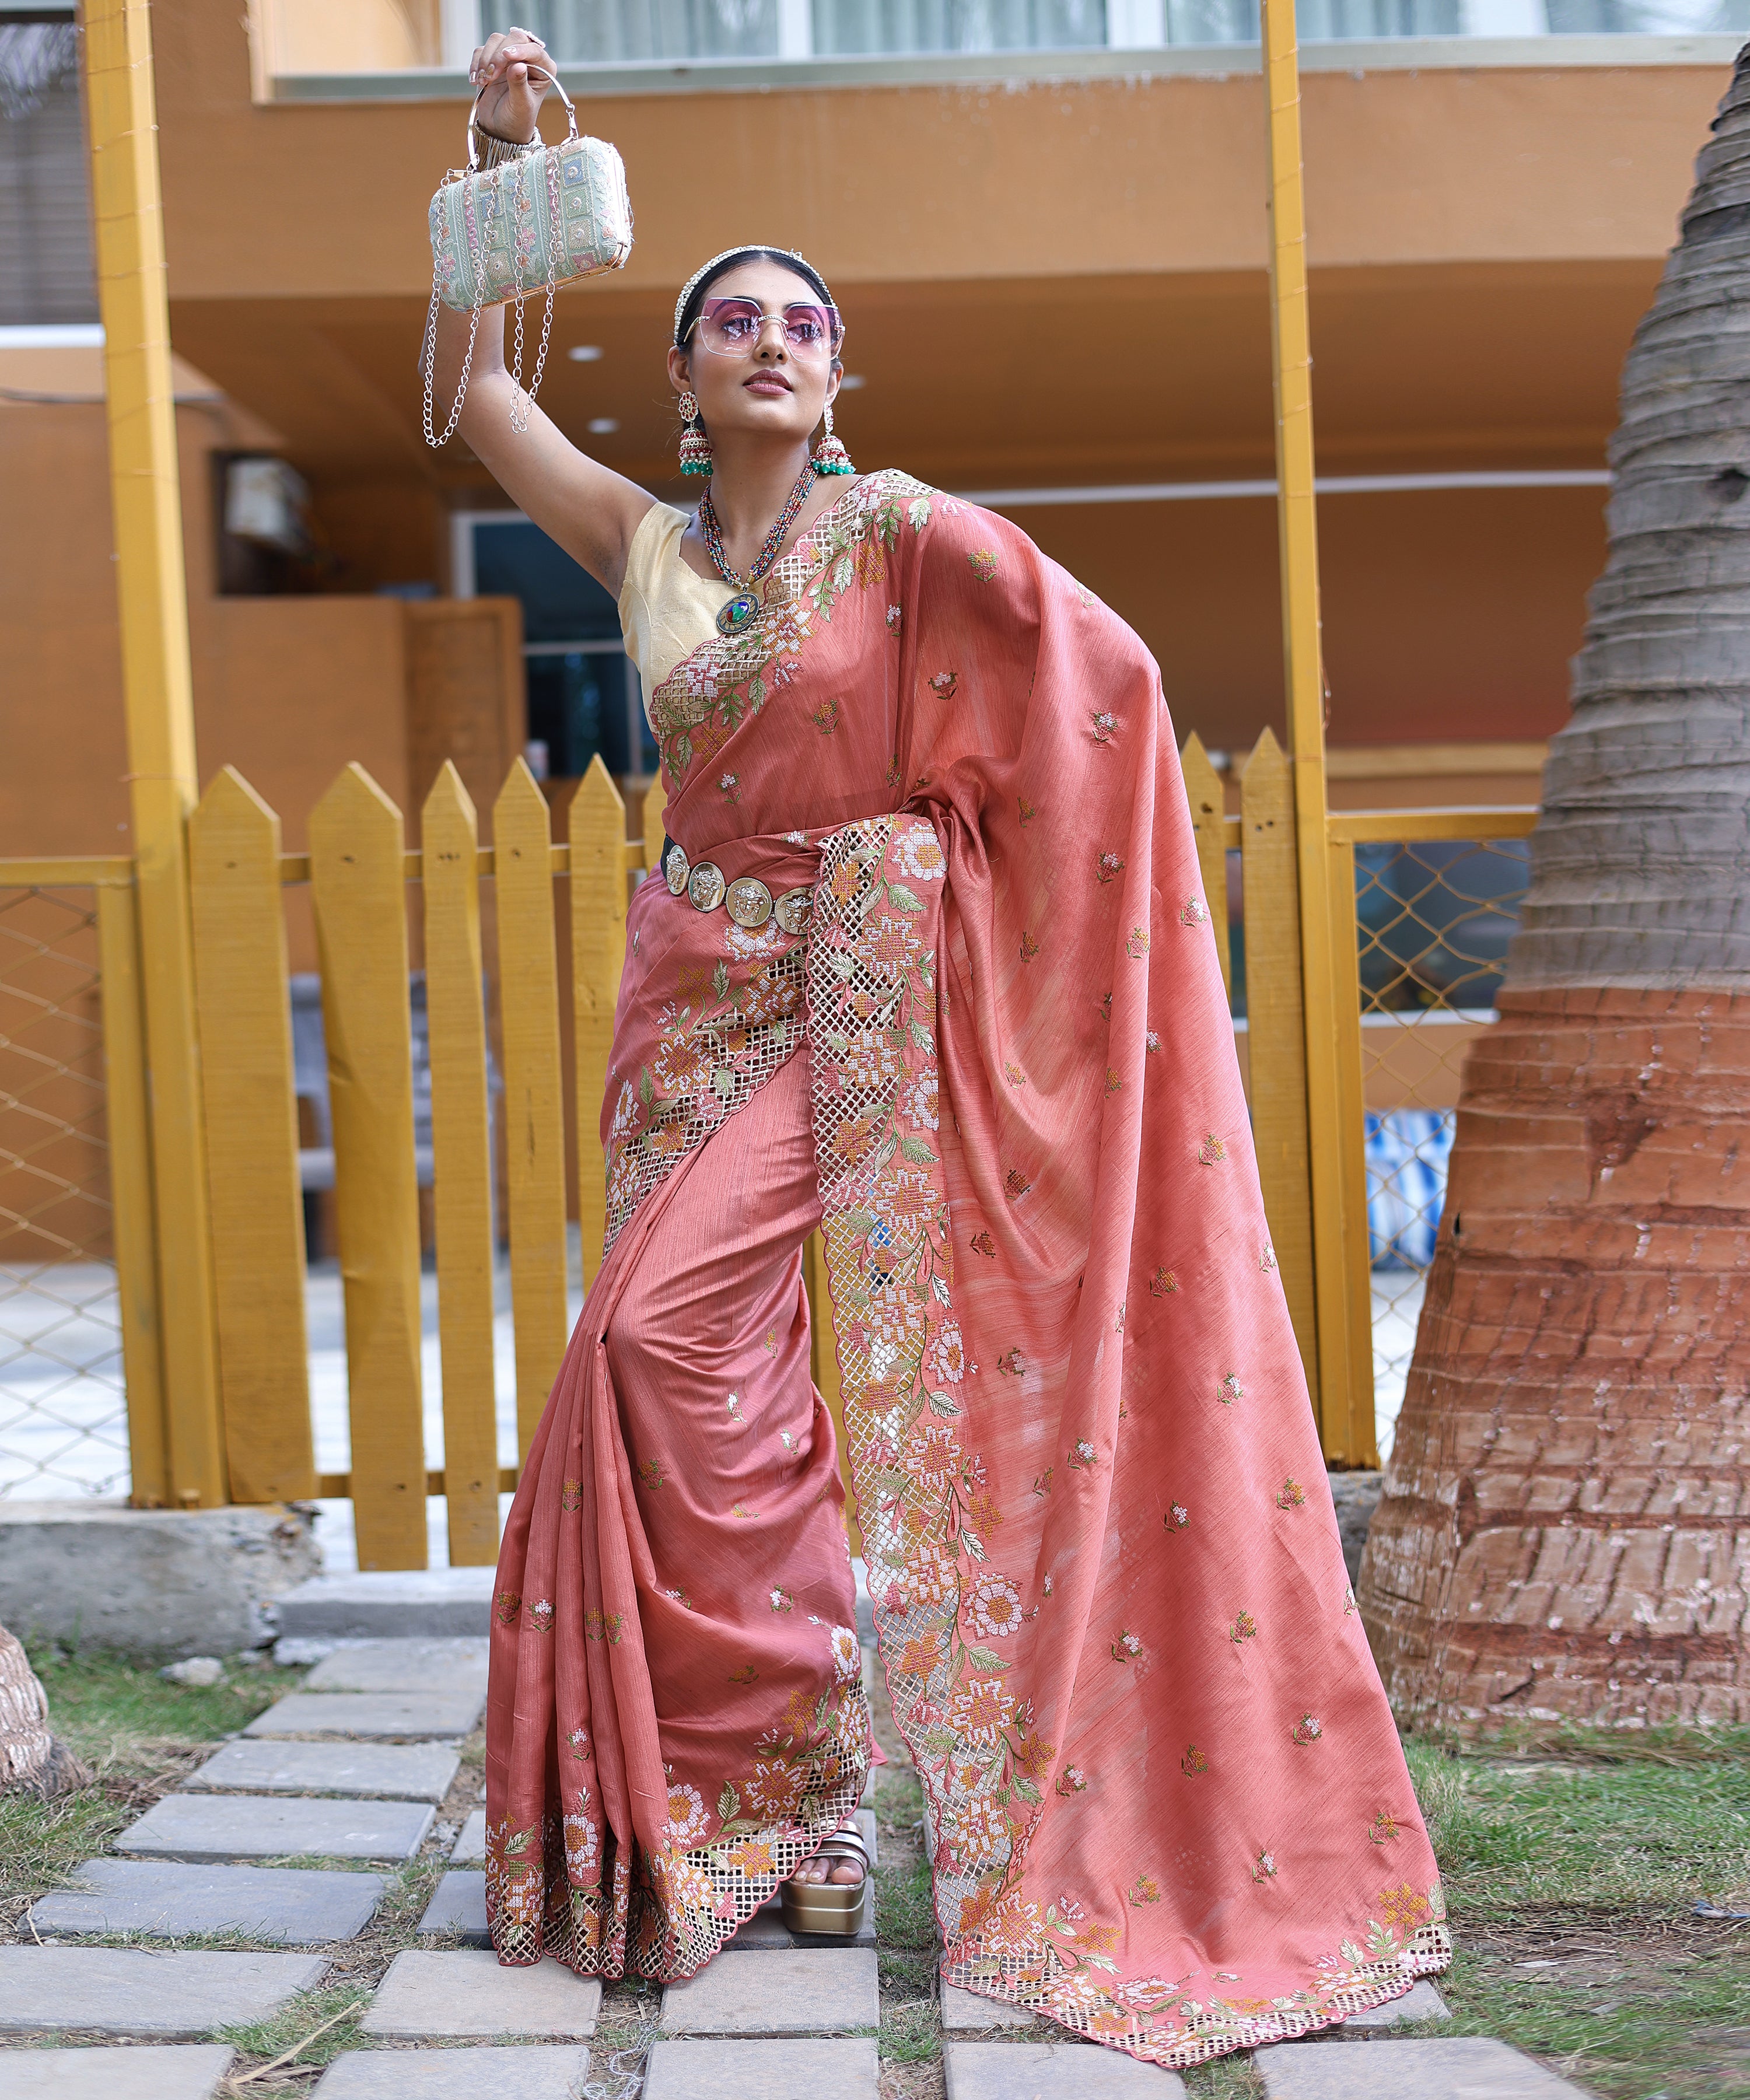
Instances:
[[[179,1867],[147,1858],[88,1858],[78,1888],[40,1896],[38,1932],[235,1932],[279,1947],[317,1947],[363,1932],[382,1900],[380,1873],[345,1867]]]

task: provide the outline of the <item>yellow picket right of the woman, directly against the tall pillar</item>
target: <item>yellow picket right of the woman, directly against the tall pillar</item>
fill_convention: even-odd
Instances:
[[[1246,1071],[1252,1142],[1294,1340],[1317,1392],[1313,1184],[1307,1159],[1307,1016],[1300,1004],[1300,884],[1294,781],[1267,729],[1239,775],[1239,869],[1246,884]]]

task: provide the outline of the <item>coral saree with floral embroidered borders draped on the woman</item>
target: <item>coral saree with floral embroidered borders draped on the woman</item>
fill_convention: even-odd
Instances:
[[[943,1976],[1164,2064],[1401,1995],[1441,1896],[1153,662],[878,475],[651,712],[695,884],[628,914],[609,1250],[500,1560],[502,1959],[691,1974],[861,1793],[819,1220]]]

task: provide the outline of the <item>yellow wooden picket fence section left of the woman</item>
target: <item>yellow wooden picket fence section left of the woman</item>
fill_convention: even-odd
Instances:
[[[655,815],[655,798],[651,813]],[[481,884],[492,882],[502,1056],[504,1205],[517,1363],[519,1455],[567,1342],[565,1105],[555,878],[567,884],[576,1044],[578,1201],[584,1260],[601,1245],[595,1128],[607,1084],[626,934],[626,878],[641,853],[601,762],[569,806],[565,844],[517,760],[481,848],[477,813],[445,764],[408,850],[401,813],[361,766],[317,804],[307,855],[237,773],[208,788],[189,825],[195,1002],[202,1040],[214,1308],[225,1464],[237,1502],[345,1495],[361,1567],[422,1567],[426,1495],[443,1495],[450,1560],[498,1552],[494,1392],[494,1184]],[[305,1228],[288,1027],[286,892],[315,920],[334,1224],[342,1252],[351,1470],[317,1474],[305,1348]],[[408,1006],[408,895],[424,956],[443,1468],[424,1460],[420,1199]]]

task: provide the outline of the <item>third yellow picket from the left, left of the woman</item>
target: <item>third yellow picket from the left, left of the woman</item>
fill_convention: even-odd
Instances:
[[[424,1012],[443,1363],[450,1567],[498,1558],[498,1413],[492,1376],[492,1126],[481,998],[479,834],[445,758],[420,813]]]

